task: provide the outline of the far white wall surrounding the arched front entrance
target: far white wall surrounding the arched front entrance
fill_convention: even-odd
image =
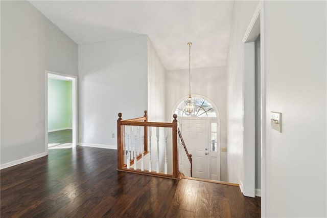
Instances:
[[[226,147],[226,68],[191,68],[191,93],[211,99],[220,113],[220,147]],[[166,111],[171,122],[175,104],[189,95],[189,69],[166,72]],[[227,151],[228,152],[228,151]],[[221,178],[227,181],[226,152],[221,152]]]

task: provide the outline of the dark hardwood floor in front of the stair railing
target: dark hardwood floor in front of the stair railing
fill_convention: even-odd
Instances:
[[[1,217],[260,217],[239,187],[119,172],[111,149],[53,149],[0,174]]]

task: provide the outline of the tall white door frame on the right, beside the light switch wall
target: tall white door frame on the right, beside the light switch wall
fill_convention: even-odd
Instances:
[[[266,159],[266,77],[265,77],[265,28],[264,28],[264,1],[260,1],[258,4],[258,7],[256,8],[253,17],[249,23],[249,26],[246,30],[246,33],[243,37],[242,42],[244,42],[244,59],[243,59],[243,85],[245,82],[245,85],[249,87],[250,84],[247,84],[246,82],[253,83],[254,85],[254,41],[259,36],[261,37],[261,51],[260,51],[260,60],[261,60],[261,67],[260,67],[260,95],[261,95],[261,214],[263,217],[265,217],[265,186],[266,186],[266,180],[265,180],[265,171],[266,171],[266,165],[265,165],[265,159]],[[249,61],[250,63],[247,63]],[[244,80],[245,75],[248,76],[250,74],[252,78],[253,74],[253,81],[251,80]],[[243,86],[244,88],[244,86]],[[244,93],[243,93],[244,94]],[[243,96],[243,108],[244,108],[244,102],[246,98]],[[251,100],[250,100],[251,101]],[[253,95],[253,104],[252,102],[246,102],[247,105],[253,105],[253,112],[254,112],[254,95]],[[244,116],[243,113],[243,130],[246,129],[247,123],[244,122]],[[248,143],[251,142],[252,138],[254,139],[255,136],[255,129],[252,128],[252,122],[254,123],[254,119],[250,120],[250,129],[251,129],[251,139],[248,141],[245,141],[245,144],[243,144],[243,163],[244,163],[244,176],[245,173],[248,173],[247,177],[244,177],[243,179],[248,179],[247,182],[243,184],[243,194],[245,196],[254,197],[255,195],[255,146],[254,143],[250,144],[248,146]],[[248,130],[248,129],[247,129]],[[249,132],[247,132],[249,133]],[[244,134],[244,132],[243,132]],[[243,135],[244,137],[244,135]],[[244,141],[243,141],[244,143]],[[244,152],[245,151],[245,152]],[[254,164],[253,164],[254,163]],[[241,185],[240,185],[241,188]],[[251,195],[251,196],[250,196]],[[252,196],[253,195],[253,196]]]

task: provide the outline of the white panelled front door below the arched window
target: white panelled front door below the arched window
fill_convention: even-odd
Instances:
[[[211,128],[208,119],[181,118],[181,132],[192,154],[192,177],[220,180],[220,156],[211,151]]]

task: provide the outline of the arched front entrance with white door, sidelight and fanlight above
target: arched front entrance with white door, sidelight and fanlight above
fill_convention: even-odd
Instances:
[[[217,107],[196,96],[195,113],[185,113],[186,100],[175,107],[186,148],[192,155],[192,177],[220,181],[220,119]]]

